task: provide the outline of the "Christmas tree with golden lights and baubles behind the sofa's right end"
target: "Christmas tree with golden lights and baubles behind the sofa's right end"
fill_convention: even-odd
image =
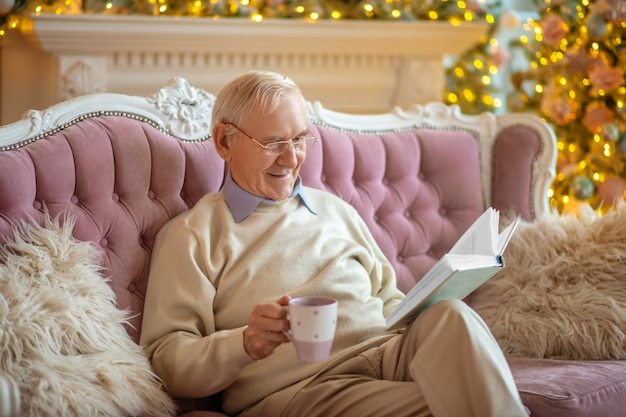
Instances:
[[[528,69],[512,74],[511,111],[547,120],[558,141],[551,204],[609,209],[626,190],[626,1],[535,0],[538,18],[512,47]]]

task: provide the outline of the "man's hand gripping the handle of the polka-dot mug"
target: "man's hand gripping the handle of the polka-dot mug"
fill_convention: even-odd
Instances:
[[[282,296],[275,303],[260,303],[254,306],[243,332],[243,348],[254,359],[261,360],[272,353],[289,338],[283,333],[289,330],[287,310],[291,297]]]

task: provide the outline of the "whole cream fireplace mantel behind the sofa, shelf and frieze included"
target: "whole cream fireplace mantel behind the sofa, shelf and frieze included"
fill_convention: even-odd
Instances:
[[[379,113],[443,99],[443,57],[484,24],[32,15],[2,38],[0,123],[93,92],[147,96],[173,77],[217,93],[236,74],[293,78],[327,108]]]

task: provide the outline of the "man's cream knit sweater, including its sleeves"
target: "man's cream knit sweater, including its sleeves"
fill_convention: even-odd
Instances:
[[[253,306],[285,294],[339,300],[335,360],[387,339],[384,317],[403,297],[391,265],[352,206],[305,192],[317,214],[293,197],[235,223],[218,192],[159,232],[141,344],[172,395],[223,391],[237,413],[327,365],[300,362],[290,343],[258,362],[246,354]]]

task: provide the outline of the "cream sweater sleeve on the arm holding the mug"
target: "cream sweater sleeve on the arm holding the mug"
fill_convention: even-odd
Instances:
[[[217,393],[253,362],[243,348],[245,327],[216,331],[216,290],[201,256],[207,244],[174,221],[152,253],[140,343],[168,392],[180,398]]]

